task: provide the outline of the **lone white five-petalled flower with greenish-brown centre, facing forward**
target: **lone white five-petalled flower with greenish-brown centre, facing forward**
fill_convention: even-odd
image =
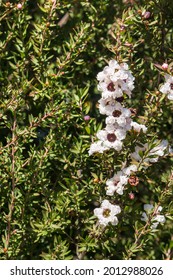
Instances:
[[[108,200],[103,200],[100,208],[94,209],[94,215],[98,217],[99,224],[107,226],[109,223],[112,225],[118,224],[117,214],[121,212],[118,205],[111,204]]]

